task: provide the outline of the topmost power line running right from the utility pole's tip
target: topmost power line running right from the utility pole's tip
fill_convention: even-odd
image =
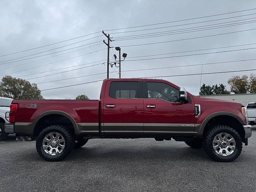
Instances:
[[[222,14],[209,15],[209,16],[188,18],[188,19],[182,19],[182,20],[176,20],[176,21],[168,21],[168,22],[162,22],[162,23],[156,23],[156,24],[148,24],[148,25],[140,25],[140,26],[126,27],[126,28],[109,29],[109,30],[106,30],[106,31],[122,30],[122,29],[138,28],[138,27],[146,27],[146,26],[167,24],[167,23],[180,22],[180,21],[188,21],[188,20],[201,19],[201,18],[207,18],[207,17],[213,17],[213,16],[220,16],[220,15],[226,15],[226,14],[232,14],[232,13],[238,13],[238,12],[244,12],[244,11],[251,11],[251,10],[256,10],[256,8],[253,8],[253,9],[246,9],[246,10],[240,10],[240,11],[234,11],[234,12],[227,12],[227,13],[222,13]]]

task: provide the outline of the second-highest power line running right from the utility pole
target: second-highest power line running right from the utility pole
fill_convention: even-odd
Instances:
[[[255,14],[256,14],[256,13],[252,13],[252,14],[246,14],[246,15],[241,15],[241,16],[220,18],[220,19],[214,19],[214,20],[208,20],[208,21],[201,21],[201,22],[194,22],[194,23],[188,23],[188,24],[179,24],[179,25],[172,25],[172,26],[164,26],[164,27],[158,27],[158,28],[149,28],[149,29],[132,30],[132,31],[124,31],[124,32],[112,32],[111,34],[120,34],[120,33],[130,33],[130,32],[148,31],[148,30],[155,30],[155,29],[164,29],[164,28],[170,28],[170,27],[185,26],[185,25],[199,24],[199,23],[205,23],[205,22],[213,22],[213,21],[224,20],[224,19],[231,19],[231,18],[237,18],[237,17],[243,17],[243,16],[250,16],[250,15],[255,15]]]

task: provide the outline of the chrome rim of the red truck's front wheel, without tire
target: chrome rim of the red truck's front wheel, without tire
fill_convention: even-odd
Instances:
[[[236,149],[236,141],[234,137],[228,133],[219,133],[214,137],[212,146],[217,154],[229,156]]]

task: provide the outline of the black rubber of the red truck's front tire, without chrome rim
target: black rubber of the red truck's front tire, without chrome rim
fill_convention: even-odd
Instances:
[[[235,148],[234,152],[228,156],[221,156],[221,155],[217,154],[212,146],[214,137],[217,134],[222,133],[222,132],[230,134],[236,142],[236,148]],[[203,139],[203,148],[204,148],[204,151],[206,152],[206,154],[208,156],[210,156],[210,158],[212,158],[215,161],[232,162],[236,158],[238,158],[238,156],[241,154],[242,139],[241,139],[241,136],[238,134],[238,132],[236,130],[234,130],[233,128],[231,128],[229,126],[225,126],[225,125],[216,125],[216,126],[213,126],[212,128],[210,128],[206,132],[204,139]]]

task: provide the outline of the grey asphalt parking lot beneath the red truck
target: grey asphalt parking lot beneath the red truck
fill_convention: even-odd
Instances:
[[[94,139],[62,162],[46,162],[35,141],[0,142],[0,191],[256,191],[256,130],[231,163],[203,149],[154,139]]]

